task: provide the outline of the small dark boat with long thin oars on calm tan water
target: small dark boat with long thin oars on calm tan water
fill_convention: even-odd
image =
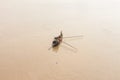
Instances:
[[[68,43],[66,43],[66,42],[63,41],[64,38],[73,38],[73,37],[81,37],[81,35],[80,36],[63,37],[63,33],[61,31],[59,36],[54,37],[54,40],[52,41],[52,46],[48,50],[50,50],[51,48],[58,47],[61,43],[64,43],[64,44],[66,44],[66,45],[68,45],[68,46],[76,49],[72,45],[70,45],[70,44],[68,44]]]

